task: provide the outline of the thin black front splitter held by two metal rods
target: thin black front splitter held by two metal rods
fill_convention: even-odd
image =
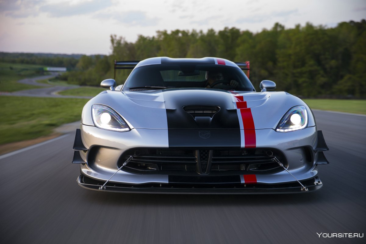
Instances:
[[[323,184],[319,177],[314,177],[306,181],[301,181],[309,190],[302,191],[300,184],[238,184],[228,183],[213,186],[212,184],[143,184],[143,185],[128,185],[118,183],[107,183],[105,188],[100,187],[105,183],[81,175],[77,179],[78,184],[86,189],[95,191],[107,192],[122,192],[122,193],[149,193],[149,194],[286,194],[286,193],[306,193],[314,192],[320,189]]]

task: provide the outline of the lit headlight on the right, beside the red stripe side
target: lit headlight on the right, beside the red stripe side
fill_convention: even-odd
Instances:
[[[296,106],[288,110],[276,127],[278,132],[297,131],[306,128],[307,111],[305,106]]]

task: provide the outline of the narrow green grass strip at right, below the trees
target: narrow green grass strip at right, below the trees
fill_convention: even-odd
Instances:
[[[366,115],[366,100],[303,99],[311,109],[361,113]]]

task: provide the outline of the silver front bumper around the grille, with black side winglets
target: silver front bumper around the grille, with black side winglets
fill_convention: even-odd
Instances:
[[[257,146],[259,148],[273,147],[282,151],[289,163],[287,169],[291,174],[283,170],[275,173],[256,173],[254,175],[248,170],[241,170],[240,172],[232,172],[233,175],[230,172],[222,173],[223,175],[209,173],[206,176],[199,174],[182,178],[174,173],[145,174],[127,172],[124,169],[118,170],[120,167],[118,160],[124,151],[128,149],[137,146],[150,147],[151,145],[168,149],[167,143],[158,140],[162,138],[161,134],[165,132],[166,130],[161,129],[134,129],[130,132],[124,132],[124,138],[120,138],[119,136],[122,134],[118,132],[82,125],[82,129],[76,133],[74,144],[76,151],[73,159],[74,163],[81,166],[81,176],[78,178],[79,185],[87,189],[100,190],[99,187],[115,173],[106,184],[106,188],[101,191],[172,194],[303,192],[300,184],[291,176],[293,174],[309,189],[307,192],[322,187],[322,183],[317,177],[316,165],[321,164],[320,159],[322,157],[320,156],[324,155],[322,151],[327,150],[327,148],[319,146],[318,139],[320,136],[317,136],[316,127],[291,132],[291,134],[281,134],[272,129],[258,130]],[[306,154],[306,148],[311,149],[309,155]],[[194,177],[198,177],[198,180],[195,180]],[[246,180],[248,177],[255,177],[255,183],[249,183]]]

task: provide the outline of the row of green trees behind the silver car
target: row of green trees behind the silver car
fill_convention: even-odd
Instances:
[[[336,27],[296,25],[253,33],[235,27],[220,31],[157,31],[137,41],[111,35],[112,54],[82,56],[74,71],[61,79],[79,85],[98,86],[113,78],[114,60],[142,60],[149,57],[221,57],[249,60],[250,80],[258,90],[261,80],[273,80],[276,90],[304,97],[366,95],[366,20],[341,22]],[[130,71],[117,72],[122,84]]]

